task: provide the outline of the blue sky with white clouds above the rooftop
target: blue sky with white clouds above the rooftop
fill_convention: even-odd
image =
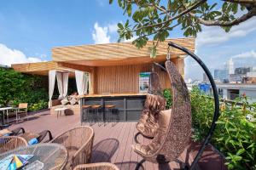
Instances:
[[[117,42],[117,23],[127,15],[108,0],[0,1],[0,64],[51,60],[53,47]],[[256,17],[229,33],[206,27],[196,37],[195,54],[213,72],[233,59],[235,66],[256,66]],[[170,37],[183,37],[177,28]],[[200,66],[185,59],[185,78],[202,79]]]

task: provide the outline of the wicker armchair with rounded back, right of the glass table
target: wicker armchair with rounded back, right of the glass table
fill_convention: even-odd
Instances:
[[[90,163],[93,139],[93,129],[82,126],[67,130],[57,135],[50,142],[63,144],[67,148],[68,161],[66,169],[73,169],[79,164]]]

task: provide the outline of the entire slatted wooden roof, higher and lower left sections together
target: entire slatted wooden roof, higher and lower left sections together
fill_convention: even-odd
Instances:
[[[189,48],[191,51],[195,50],[195,38],[167,39],[165,42],[160,42],[155,59],[149,57],[148,48],[152,47],[153,43],[151,41],[141,49],[136,48],[131,42],[70,46],[52,48],[53,61],[15,64],[12,67],[15,71],[28,74],[48,75],[49,70],[91,72],[95,66],[162,63],[166,60],[167,43],[170,41]],[[184,55],[176,48],[171,48],[170,52],[171,59]]]

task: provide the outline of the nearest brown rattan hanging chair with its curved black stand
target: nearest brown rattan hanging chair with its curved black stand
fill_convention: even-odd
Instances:
[[[169,48],[177,48],[188,54],[190,57],[195,59],[195,61],[201,65],[202,69],[206,72],[207,77],[212,85],[215,111],[212,117],[212,125],[207,133],[204,142],[201,145],[200,150],[195,156],[194,161],[191,165],[179,161],[177,158],[181,155],[185,147],[189,144],[191,133],[192,133],[192,116],[191,116],[191,105],[189,98],[189,91],[186,87],[183,77],[178,73],[176,66],[170,60]],[[155,63],[155,65],[159,65]],[[202,152],[205,150],[209,140],[212,137],[212,133],[216,127],[216,122],[219,116],[219,102],[218,102],[218,91],[216,84],[213,81],[210,71],[207,66],[197,57],[194,53],[189,51],[187,48],[183,48],[176,43],[168,43],[168,54],[166,57],[166,63],[163,67],[159,65],[161,69],[168,73],[172,87],[172,109],[166,111],[160,111],[158,113],[158,120],[155,121],[158,127],[155,133],[148,136],[141,129],[138,129],[138,133],[135,135],[135,141],[137,144],[133,145],[133,150],[143,157],[143,160],[137,163],[136,169],[143,166],[144,161],[151,161],[154,163],[164,164],[170,161],[182,162],[181,169],[195,169],[197,162],[199,161]],[[157,78],[156,78],[157,79]],[[157,89],[157,88],[154,88]],[[147,120],[139,123],[147,123]],[[150,132],[150,129],[148,129]],[[151,138],[149,144],[139,144],[137,141],[137,136],[142,134],[143,137]]]

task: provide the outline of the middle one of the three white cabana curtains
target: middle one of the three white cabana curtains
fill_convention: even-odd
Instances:
[[[57,85],[59,89],[59,99],[67,96],[68,72],[56,72]]]

